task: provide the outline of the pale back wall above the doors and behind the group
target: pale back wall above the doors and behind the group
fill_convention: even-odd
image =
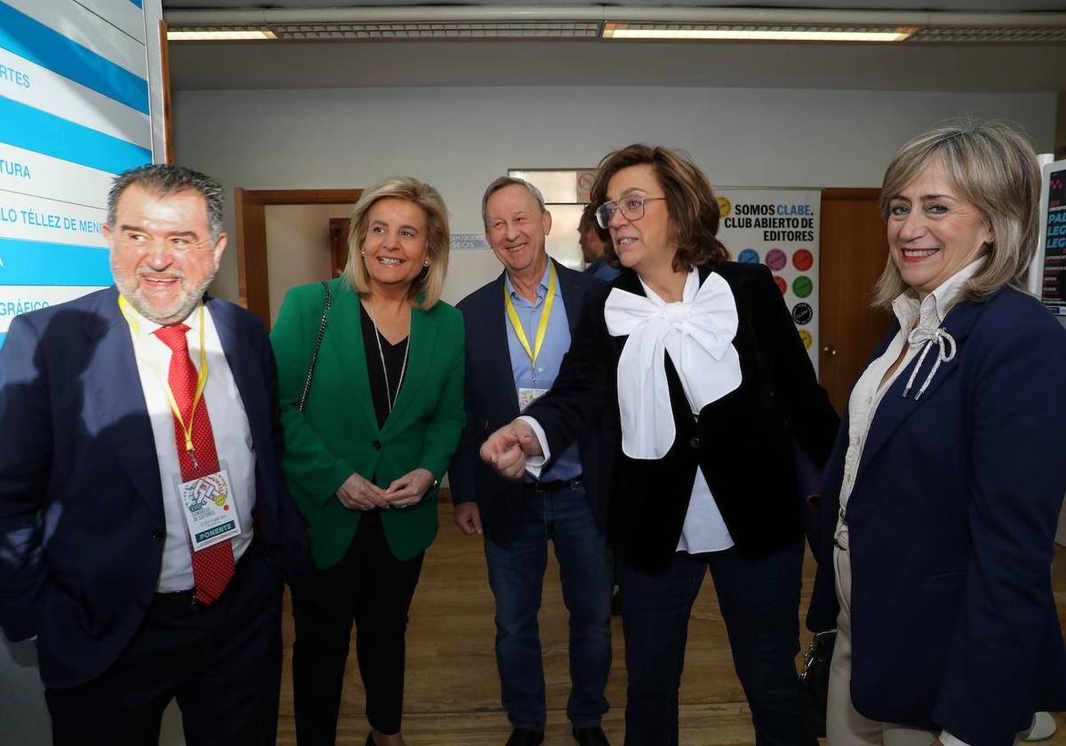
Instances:
[[[507,168],[595,165],[636,141],[687,149],[712,183],[876,186],[899,146],[942,119],[1003,118],[1038,151],[1051,149],[1055,125],[1054,94],[398,87],[179,91],[174,100],[178,162],[230,196],[235,186],[361,188],[410,174],[441,191],[457,233],[482,231],[482,191]],[[445,299],[498,272],[490,253],[456,252]],[[237,297],[236,250],[213,290]]]

